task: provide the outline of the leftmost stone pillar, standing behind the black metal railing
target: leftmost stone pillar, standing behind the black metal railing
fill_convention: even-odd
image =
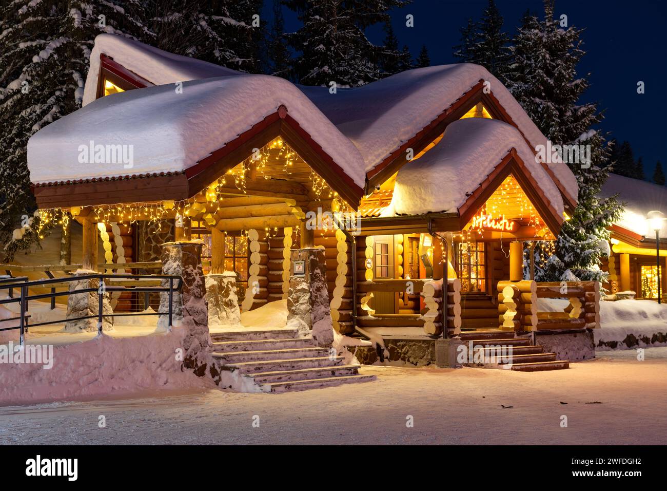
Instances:
[[[77,275],[75,275],[76,277]],[[80,275],[83,276],[83,275]],[[99,311],[99,279],[81,279],[69,282],[69,291],[77,291],[94,288],[95,291],[87,293],[75,293],[67,297],[67,319],[98,315]],[[113,314],[111,308],[111,297],[109,293],[102,293],[102,313]],[[102,317],[102,330],[113,329],[113,317]],[[81,319],[79,321],[65,322],[66,333],[81,333],[97,331],[97,317],[93,319]]]

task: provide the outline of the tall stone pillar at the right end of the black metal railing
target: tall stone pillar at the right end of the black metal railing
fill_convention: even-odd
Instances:
[[[204,296],[206,285],[201,271],[201,247],[195,242],[167,242],[162,246],[162,274],[177,275],[183,281],[181,291],[173,293],[173,325],[185,330],[183,366],[202,377],[210,363],[211,337]],[[169,286],[163,280],[162,286]],[[169,312],[169,293],[160,294],[159,313]],[[169,317],[160,315],[157,326],[169,329]]]

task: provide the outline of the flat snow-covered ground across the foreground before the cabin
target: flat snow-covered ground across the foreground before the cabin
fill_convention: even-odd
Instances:
[[[363,367],[378,380],[275,395],[209,390],[0,407],[0,444],[664,444],[667,347],[646,349],[645,361],[634,350],[610,351],[571,366]]]

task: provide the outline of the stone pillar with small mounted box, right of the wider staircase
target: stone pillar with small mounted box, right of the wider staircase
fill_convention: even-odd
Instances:
[[[287,327],[312,335],[317,346],[331,346],[333,325],[329,309],[324,249],[293,249],[287,294]],[[294,275],[295,261],[303,261],[303,276]]]

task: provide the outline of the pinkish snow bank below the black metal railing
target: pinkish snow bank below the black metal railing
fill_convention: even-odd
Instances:
[[[213,387],[211,379],[181,370],[177,349],[185,329],[131,338],[107,335],[53,347],[53,367],[0,363],[0,405],[89,399],[146,391]]]

